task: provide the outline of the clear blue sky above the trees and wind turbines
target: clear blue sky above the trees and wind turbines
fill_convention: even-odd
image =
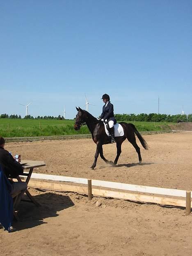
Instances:
[[[192,1],[0,2],[0,113],[192,113]],[[84,107],[85,108],[85,107]]]

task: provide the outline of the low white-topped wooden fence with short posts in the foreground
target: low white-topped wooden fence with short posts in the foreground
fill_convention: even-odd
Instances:
[[[24,178],[25,176],[23,176]],[[110,181],[98,181],[90,180],[85,178],[75,178],[48,174],[32,174],[31,178],[41,179],[41,180],[52,180],[52,181],[64,181],[79,183],[88,186],[79,185],[66,185],[62,183],[50,183],[46,181],[32,181],[30,180],[29,186],[35,188],[41,188],[45,190],[53,191],[67,191],[67,192],[77,192],[79,194],[87,194],[89,200],[91,200],[91,194],[98,197],[112,197],[117,199],[124,199],[130,201],[139,201],[146,203],[158,203],[161,205],[172,205],[181,206],[186,208],[186,215],[189,215],[192,208],[191,201],[191,191],[186,190],[176,190],[162,187],[149,187],[142,185],[133,185],[125,183],[116,183]],[[100,187],[95,188],[92,186]],[[103,188],[109,188],[110,190],[105,190]],[[128,192],[122,191],[112,191],[116,190],[126,190]],[[135,193],[137,192],[137,193]],[[138,194],[139,192],[139,194]],[[142,194],[144,193],[144,194]],[[171,196],[171,197],[170,197]]]

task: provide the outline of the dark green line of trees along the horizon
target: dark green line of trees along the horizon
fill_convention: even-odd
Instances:
[[[117,121],[145,121],[145,122],[192,122],[192,114],[176,114],[176,115],[170,115],[170,114],[156,114],[156,113],[150,113],[150,114],[115,114],[114,115]],[[10,119],[21,119],[21,115],[17,114],[11,114],[10,116],[8,114],[1,114],[0,118],[10,118]],[[53,116],[44,116],[44,117],[33,117],[31,115],[27,115],[24,117],[24,119],[57,119],[57,120],[64,120],[64,117],[61,115],[58,115],[58,117]]]

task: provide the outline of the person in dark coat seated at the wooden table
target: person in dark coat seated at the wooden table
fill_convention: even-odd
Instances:
[[[13,156],[4,149],[5,139],[0,137],[0,165],[7,178],[16,178],[18,175],[23,174],[23,167],[17,162]],[[13,182],[9,180],[12,186],[11,195],[19,191],[27,189],[27,183],[25,182]]]

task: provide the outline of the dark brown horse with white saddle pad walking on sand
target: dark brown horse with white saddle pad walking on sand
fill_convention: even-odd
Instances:
[[[76,107],[76,110],[78,111],[76,118],[75,118],[75,123],[74,123],[74,129],[75,130],[80,130],[80,127],[82,125],[87,125],[89,128],[89,131],[91,132],[92,139],[97,145],[96,148],[96,153],[95,153],[95,160],[93,165],[90,167],[94,170],[96,167],[96,162],[98,159],[98,155],[100,154],[101,158],[106,162],[110,163],[112,165],[116,165],[117,161],[119,159],[119,156],[121,155],[121,144],[125,139],[128,139],[128,141],[134,146],[135,150],[137,151],[138,157],[139,157],[139,164],[142,163],[142,158],[141,158],[141,153],[140,153],[140,148],[137,145],[135,134],[137,135],[137,138],[141,142],[142,146],[144,149],[148,149],[149,146],[140,135],[134,124],[132,123],[125,123],[125,122],[120,122],[121,126],[123,127],[124,130],[124,135],[121,137],[115,137],[116,141],[116,146],[117,146],[117,156],[114,160],[108,161],[104,155],[103,155],[103,145],[104,144],[109,144],[109,137],[105,133],[105,126],[103,121],[96,119],[93,117],[89,112],[86,110],[82,110],[80,107]]]

